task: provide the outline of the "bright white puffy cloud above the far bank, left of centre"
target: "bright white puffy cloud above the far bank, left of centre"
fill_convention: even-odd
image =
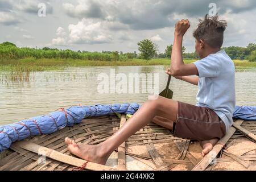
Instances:
[[[69,24],[69,42],[77,44],[110,43],[112,38],[101,22],[82,19],[77,24]]]

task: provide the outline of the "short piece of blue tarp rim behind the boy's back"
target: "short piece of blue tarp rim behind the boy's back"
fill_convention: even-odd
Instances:
[[[256,121],[256,106],[236,106],[233,118]]]

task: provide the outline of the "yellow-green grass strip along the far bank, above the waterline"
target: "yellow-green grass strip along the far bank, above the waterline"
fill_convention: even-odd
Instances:
[[[192,63],[195,60],[184,60],[185,63]],[[256,62],[246,60],[234,60],[237,69],[256,68]],[[15,72],[35,72],[59,70],[68,67],[88,67],[88,66],[122,66],[122,65],[170,65],[168,59],[130,59],[125,61],[94,61],[81,59],[18,59],[0,60],[0,71]]]

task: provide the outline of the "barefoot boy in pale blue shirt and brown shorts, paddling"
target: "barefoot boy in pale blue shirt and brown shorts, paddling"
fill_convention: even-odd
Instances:
[[[103,143],[76,144],[74,140],[65,138],[72,154],[105,164],[115,148],[150,121],[172,130],[175,137],[199,140],[203,156],[212,150],[218,139],[224,137],[232,126],[235,106],[234,64],[225,51],[221,51],[226,22],[218,20],[218,16],[205,16],[204,20],[200,20],[193,36],[201,60],[184,64],[181,47],[189,27],[188,20],[176,23],[171,69],[166,73],[199,86],[196,106],[155,96]],[[191,75],[197,77],[189,77]]]

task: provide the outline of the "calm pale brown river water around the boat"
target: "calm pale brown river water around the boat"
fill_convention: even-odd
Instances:
[[[148,79],[150,75],[147,73],[152,73],[152,84],[158,87],[159,92],[165,88],[168,78],[162,66],[69,68],[64,71],[30,73],[29,81],[23,82],[7,81],[3,79],[7,73],[0,72],[0,77],[2,77],[0,82],[0,125],[48,114],[60,107],[125,102],[142,104],[147,100],[150,94],[148,90],[142,92],[145,90],[140,89],[139,93],[129,93],[129,86],[127,86],[127,93],[118,93],[118,90],[114,90],[112,93],[99,93],[98,85],[102,82],[99,80],[99,75],[105,73],[105,79],[111,85],[114,81],[114,78],[110,76],[111,70],[115,72],[115,75],[124,73],[121,76],[127,78],[129,73],[144,73],[147,77],[140,80],[140,86],[142,83],[151,82],[151,79]],[[154,82],[154,78],[158,78],[159,84]],[[114,83],[117,84],[118,81],[114,81]],[[115,86],[117,86],[116,84]],[[255,88],[255,70],[237,72],[237,105],[256,105]],[[170,89],[174,91],[174,100],[195,104],[197,86],[172,78]]]

